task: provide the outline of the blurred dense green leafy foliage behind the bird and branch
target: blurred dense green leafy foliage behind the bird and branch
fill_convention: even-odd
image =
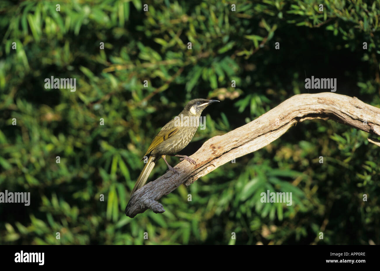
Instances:
[[[31,203],[1,203],[1,244],[380,243],[378,147],[333,121],[303,122],[179,187],[163,214],[124,215],[142,155],[192,98],[222,103],[204,111],[187,155],[312,91],[304,76],[337,78],[336,93],[380,107],[378,0],[231,4],[2,1],[0,191]],[[51,76],[76,78],[76,92],[45,89]],[[158,163],[150,180],[165,171]],[[293,204],[261,203],[267,190]]]

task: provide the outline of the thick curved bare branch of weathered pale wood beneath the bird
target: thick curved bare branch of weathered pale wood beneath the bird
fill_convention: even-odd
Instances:
[[[283,135],[292,125],[309,119],[332,119],[380,136],[379,108],[363,103],[356,97],[331,92],[295,95],[248,124],[207,140],[191,156],[196,166],[182,161],[176,166],[179,175],[168,171],[141,187],[130,198],[125,214],[135,217],[147,209],[155,213],[165,212],[157,200],[179,185],[189,186],[218,166],[261,149]],[[376,139],[369,141],[376,144]]]

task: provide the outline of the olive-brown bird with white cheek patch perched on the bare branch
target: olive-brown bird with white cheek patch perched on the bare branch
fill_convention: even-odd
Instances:
[[[196,162],[192,158],[187,155],[179,155],[176,153],[184,149],[184,147],[186,147],[193,139],[193,136],[198,129],[199,117],[201,116],[203,109],[215,102],[219,101],[206,99],[191,100],[178,116],[174,117],[174,119],[170,120],[161,128],[160,132],[154,137],[152,143],[150,143],[150,146],[144,155],[144,157],[149,155],[149,158],[136,181],[135,187],[133,187],[131,196],[146,183],[150,172],[160,158],[163,158],[170,171],[179,174],[166,161],[166,155],[182,157],[179,159],[180,161],[187,160],[189,163],[196,165]],[[196,119],[198,119],[198,124],[196,124]],[[144,157],[142,157],[141,161]]]

